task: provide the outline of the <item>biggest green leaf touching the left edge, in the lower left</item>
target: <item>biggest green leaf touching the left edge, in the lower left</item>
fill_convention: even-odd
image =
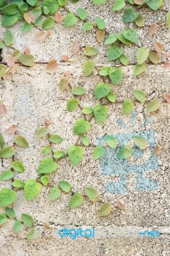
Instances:
[[[17,199],[17,193],[10,188],[0,190],[0,207],[6,207],[13,204]]]

